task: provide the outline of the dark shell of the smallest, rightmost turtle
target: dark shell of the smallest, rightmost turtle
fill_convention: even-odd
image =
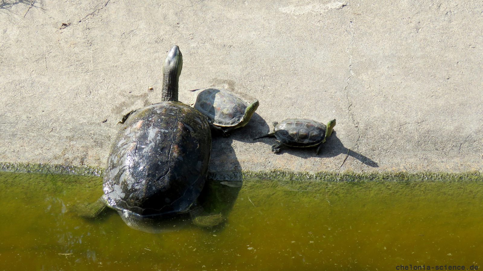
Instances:
[[[327,126],[307,119],[287,119],[275,126],[278,141],[292,147],[318,145],[326,136]]]

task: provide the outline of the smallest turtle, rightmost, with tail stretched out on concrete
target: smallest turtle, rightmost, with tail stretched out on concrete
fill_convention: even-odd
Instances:
[[[254,138],[274,136],[280,143],[272,145],[274,153],[280,152],[282,146],[290,147],[314,147],[319,154],[322,143],[332,134],[332,129],[336,124],[335,119],[328,122],[327,126],[323,123],[307,119],[286,119],[280,123],[273,122],[273,132]]]

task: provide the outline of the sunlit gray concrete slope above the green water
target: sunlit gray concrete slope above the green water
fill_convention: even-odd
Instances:
[[[104,166],[177,44],[181,101],[208,86],[260,101],[214,138],[212,171],[334,171],[347,153],[341,171],[483,170],[482,1],[29,4],[0,8],[1,162]],[[337,119],[322,154],[251,140],[292,117]]]

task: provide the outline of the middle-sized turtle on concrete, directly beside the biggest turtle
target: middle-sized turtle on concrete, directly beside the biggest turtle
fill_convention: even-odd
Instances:
[[[224,88],[203,88],[194,92],[191,106],[208,118],[213,128],[224,134],[245,126],[258,108],[258,100],[248,104],[240,96]]]

